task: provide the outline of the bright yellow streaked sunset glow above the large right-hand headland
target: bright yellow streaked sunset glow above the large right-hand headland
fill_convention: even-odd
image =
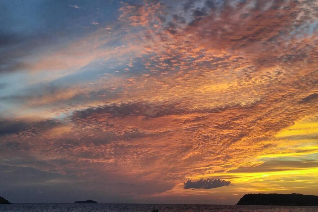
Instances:
[[[290,190],[289,188],[278,187],[278,184],[299,184],[299,183],[309,183],[309,184],[317,184],[318,183],[318,168],[317,167],[293,167],[292,164],[288,166],[284,166],[284,160],[292,160],[292,158],[298,158],[299,160],[304,160],[308,157],[313,157],[313,154],[318,154],[318,146],[316,139],[301,139],[304,135],[312,135],[318,134],[318,122],[308,122],[308,118],[300,120],[296,122],[293,126],[288,127],[281,132],[277,133],[274,137],[279,139],[282,137],[290,137],[293,136],[300,137],[299,139],[293,140],[290,142],[288,139],[279,140],[280,145],[278,146],[279,151],[283,151],[281,153],[276,152],[273,154],[263,154],[259,155],[255,158],[256,161],[260,159],[266,159],[262,161],[262,164],[266,165],[267,162],[272,160],[282,160],[282,165],[279,167],[271,167],[272,169],[277,168],[277,170],[268,170],[266,169],[262,171],[258,171],[258,166],[248,167],[249,171],[239,171],[234,172],[235,170],[231,170],[230,172],[223,173],[212,173],[212,174],[201,174],[196,176],[191,176],[189,179],[198,180],[200,178],[220,178],[225,180],[230,180],[233,184],[241,185],[240,189],[244,191],[277,191],[277,190]],[[288,147],[288,143],[292,145]],[[288,152],[287,152],[288,151]],[[301,157],[301,159],[300,159]],[[261,161],[260,161],[261,162]],[[255,171],[252,171],[252,170]],[[284,170],[288,169],[288,170]],[[310,176],[311,180],[307,181],[306,178]],[[291,180],[282,180],[283,178],[288,177]],[[301,179],[299,179],[301,178]],[[266,181],[266,182],[265,182]],[[275,182],[273,187],[267,185],[268,181]],[[253,183],[257,185],[257,187],[253,188],[245,188],[246,183]],[[266,185],[266,186],[265,186]],[[298,186],[297,188],[306,188]],[[311,187],[310,187],[311,188]]]

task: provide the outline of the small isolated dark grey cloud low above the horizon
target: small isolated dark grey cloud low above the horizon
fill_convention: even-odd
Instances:
[[[231,185],[230,181],[220,180],[220,179],[206,179],[204,180],[201,178],[198,181],[191,181],[188,180],[187,182],[183,183],[183,188],[204,188],[204,189],[210,189],[210,188],[218,188],[222,186],[229,186]]]

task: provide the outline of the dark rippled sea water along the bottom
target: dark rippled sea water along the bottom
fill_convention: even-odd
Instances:
[[[6,212],[45,212],[45,211],[76,211],[76,212],[123,212],[123,211],[152,211],[160,209],[166,211],[272,211],[272,212],[302,212],[318,211],[318,206],[258,206],[258,205],[188,205],[188,204],[1,204],[0,211]]]

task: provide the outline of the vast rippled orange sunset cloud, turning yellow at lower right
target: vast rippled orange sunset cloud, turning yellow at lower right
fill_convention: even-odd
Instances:
[[[35,155],[45,170],[129,182],[135,187],[122,189],[138,198],[316,192],[316,4],[224,1],[176,12],[163,3],[125,3],[119,20],[134,32],[124,44],[100,48],[115,39],[100,32],[41,57],[33,69],[78,70],[117,57],[127,72],[29,98],[25,107],[55,109],[63,125],[6,133],[0,158]],[[182,187],[208,177],[234,186],[208,194]]]

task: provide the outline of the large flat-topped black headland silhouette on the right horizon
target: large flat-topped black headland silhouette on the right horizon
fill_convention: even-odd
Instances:
[[[303,194],[245,194],[237,205],[318,206],[318,196]]]

